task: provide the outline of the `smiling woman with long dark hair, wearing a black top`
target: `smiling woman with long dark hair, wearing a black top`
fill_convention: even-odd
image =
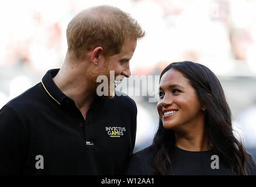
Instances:
[[[169,64],[160,75],[160,117],[153,144],[135,153],[128,175],[255,175],[233,134],[216,75],[198,63]]]

